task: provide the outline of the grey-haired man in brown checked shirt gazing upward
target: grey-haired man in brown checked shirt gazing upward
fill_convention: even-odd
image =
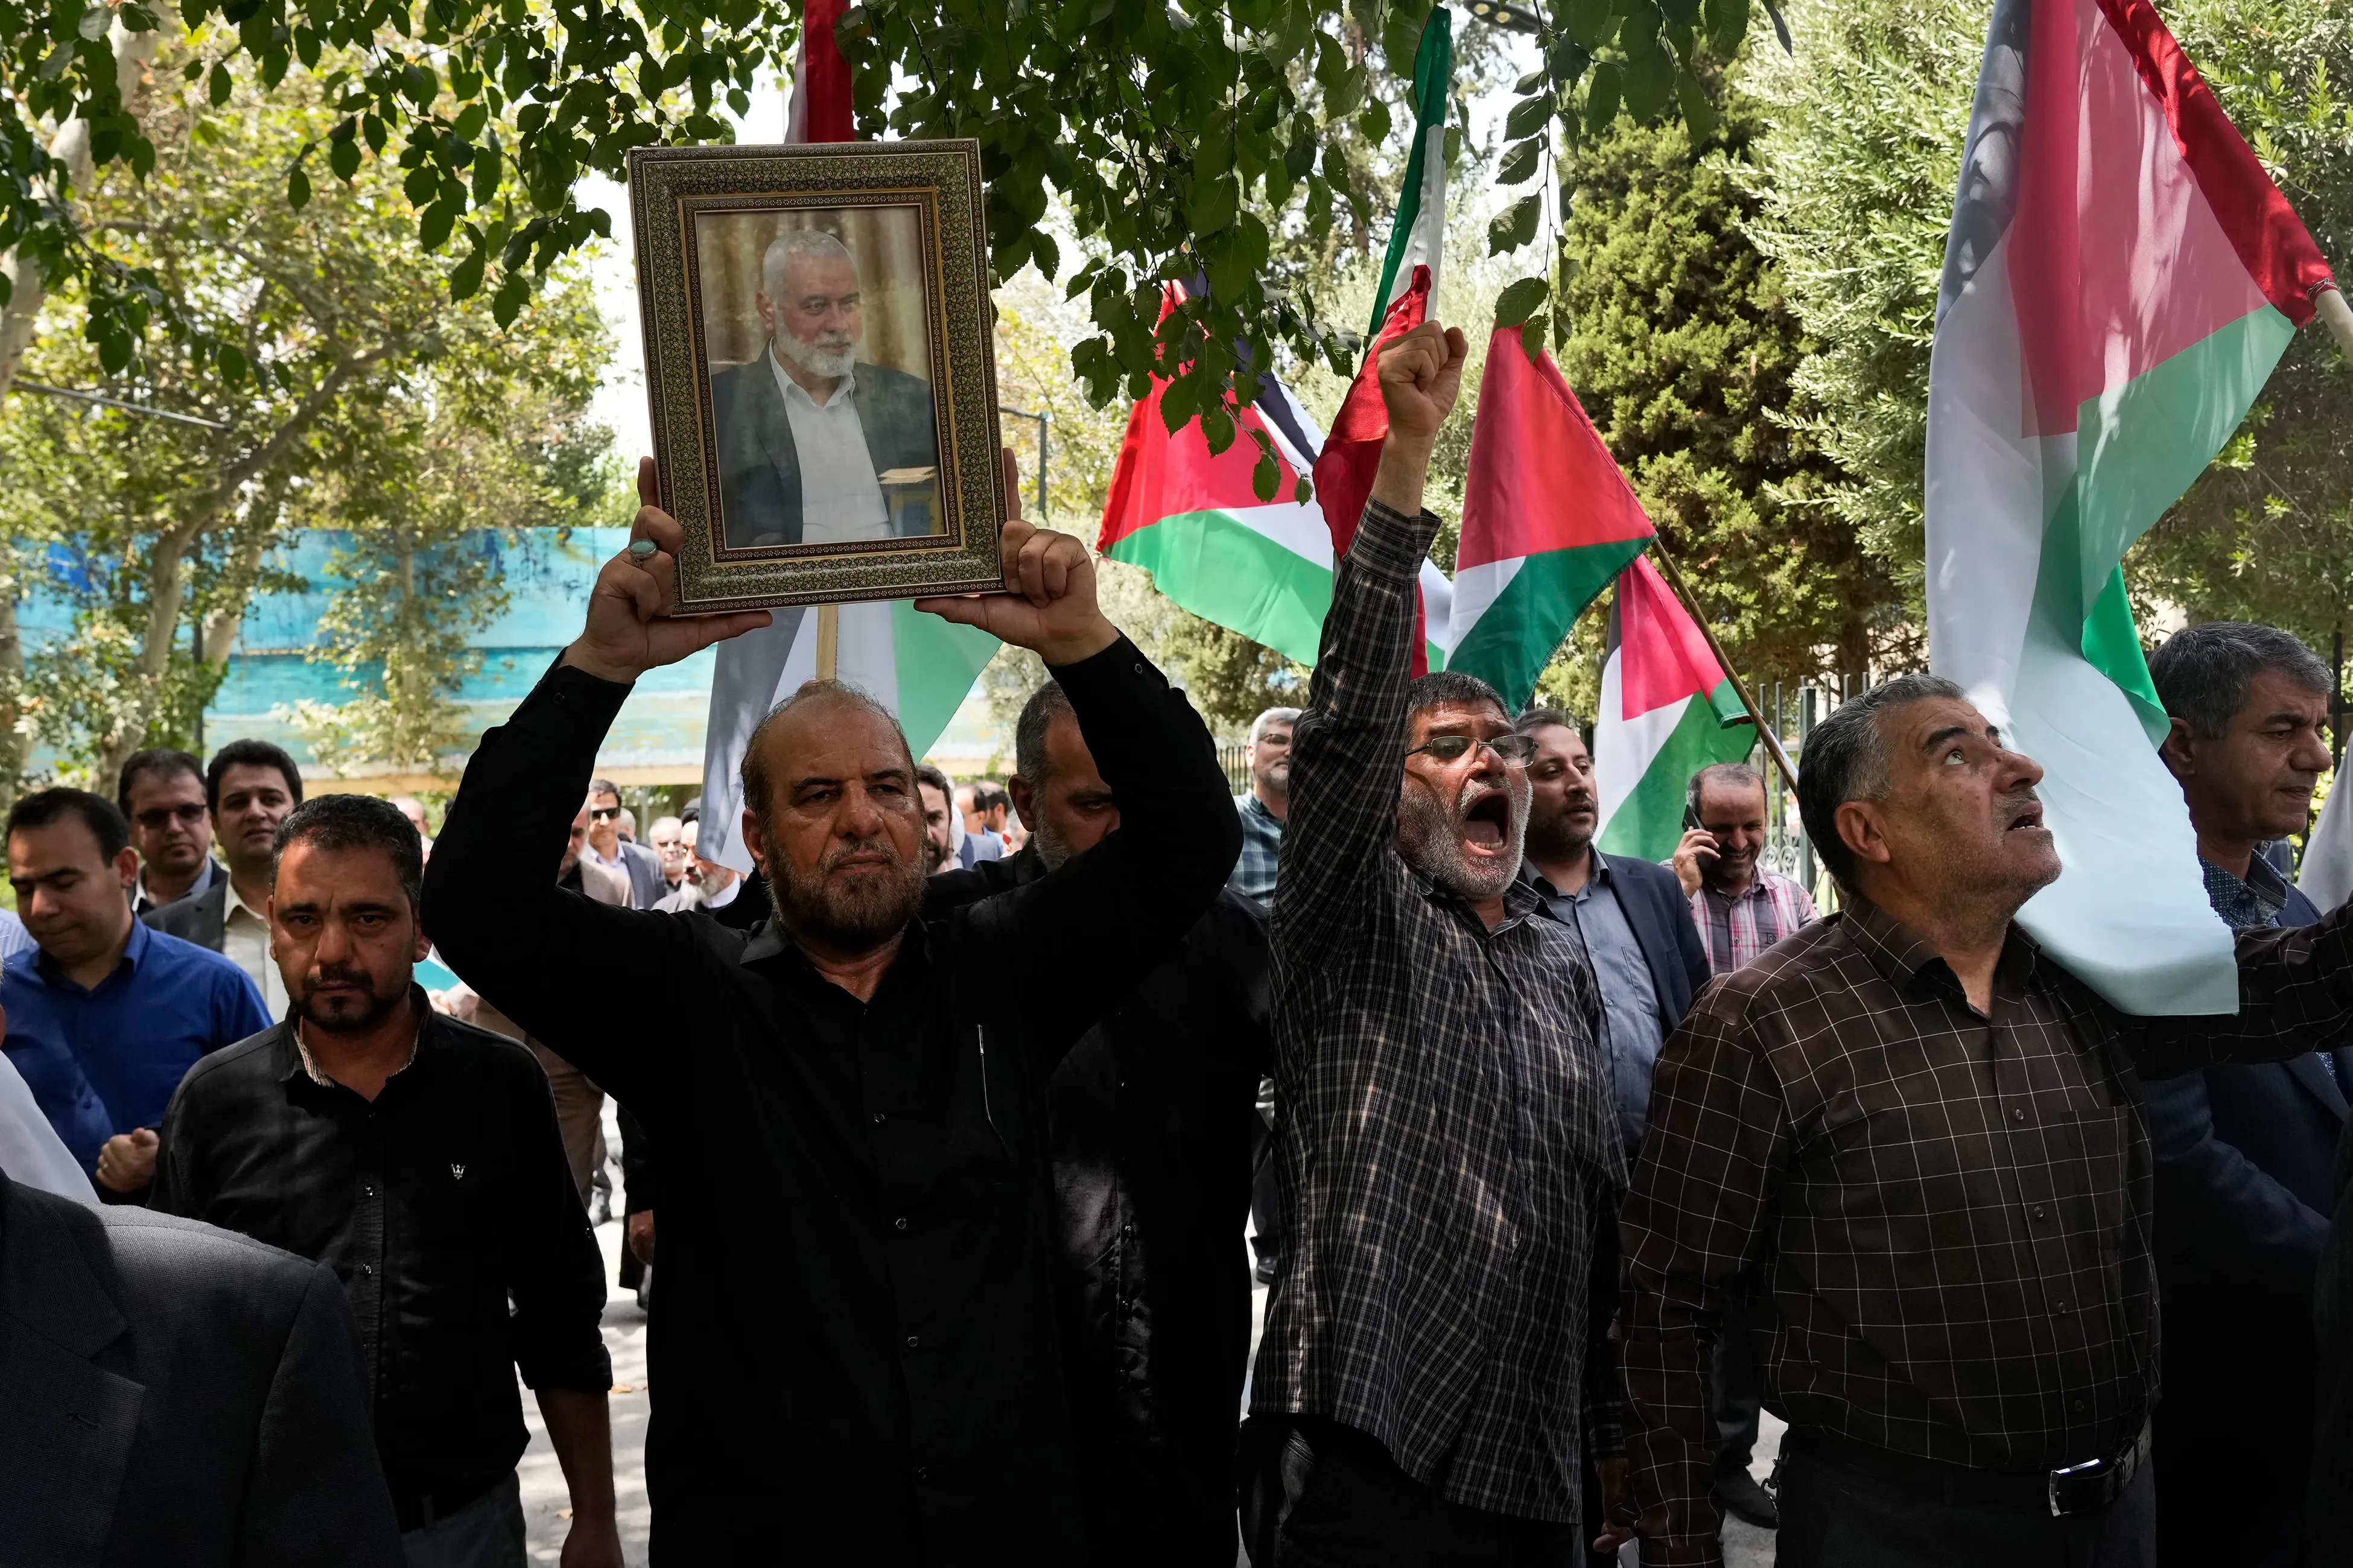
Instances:
[[[2141,1076],[2339,1036],[2353,937],[2245,932],[2238,1015],[2120,1017],[2012,923],[2059,876],[2040,777],[1934,676],[1807,737],[1845,911],[1694,1003],[1624,1210],[1645,1563],[1718,1561],[1704,1382],[1734,1297],[1791,1422],[1784,1568],[2155,1561]]]

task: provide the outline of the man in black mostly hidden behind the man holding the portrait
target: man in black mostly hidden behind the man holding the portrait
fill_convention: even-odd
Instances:
[[[927,909],[1026,888],[1120,826],[1061,685],[1021,709],[1014,765],[1028,848],[934,878]],[[1266,916],[1219,892],[1045,1085],[1061,1384],[1099,1568],[1233,1563],[1233,1413],[1249,1358],[1240,1236],[1266,1024]]]

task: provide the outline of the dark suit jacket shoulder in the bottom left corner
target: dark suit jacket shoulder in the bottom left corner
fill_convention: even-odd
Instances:
[[[0,1563],[400,1561],[334,1271],[0,1175]]]

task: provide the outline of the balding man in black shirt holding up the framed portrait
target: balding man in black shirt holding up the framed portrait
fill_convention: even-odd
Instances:
[[[1085,546],[1012,520],[1012,593],[918,607],[1045,659],[1134,833],[925,916],[906,737],[809,683],[744,753],[772,921],[567,895],[546,866],[631,683],[767,622],[671,619],[678,549],[673,518],[638,513],[579,640],[482,737],[426,878],[447,963],[661,1149],[654,1544],[1075,1563],[1045,1081],[1224,885],[1240,833],[1202,831],[1233,822],[1217,749],[1096,610]]]

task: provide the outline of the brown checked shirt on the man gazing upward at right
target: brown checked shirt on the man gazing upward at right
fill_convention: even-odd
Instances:
[[[2353,1022],[2334,913],[2242,932],[2238,1015],[2122,1017],[2012,928],[1977,1015],[1864,899],[1713,982],[1659,1052],[1624,1208],[1645,1563],[1718,1563],[1706,1368],[1739,1293],[1793,1427],[1972,1467],[2108,1457],[2158,1394],[2137,1071]]]

